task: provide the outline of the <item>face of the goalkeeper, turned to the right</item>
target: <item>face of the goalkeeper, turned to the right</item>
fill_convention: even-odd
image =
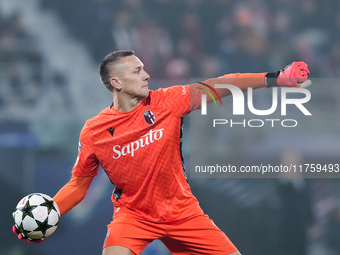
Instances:
[[[117,66],[119,70],[120,92],[131,98],[145,98],[149,95],[150,75],[144,70],[142,61],[136,56],[124,57]]]

